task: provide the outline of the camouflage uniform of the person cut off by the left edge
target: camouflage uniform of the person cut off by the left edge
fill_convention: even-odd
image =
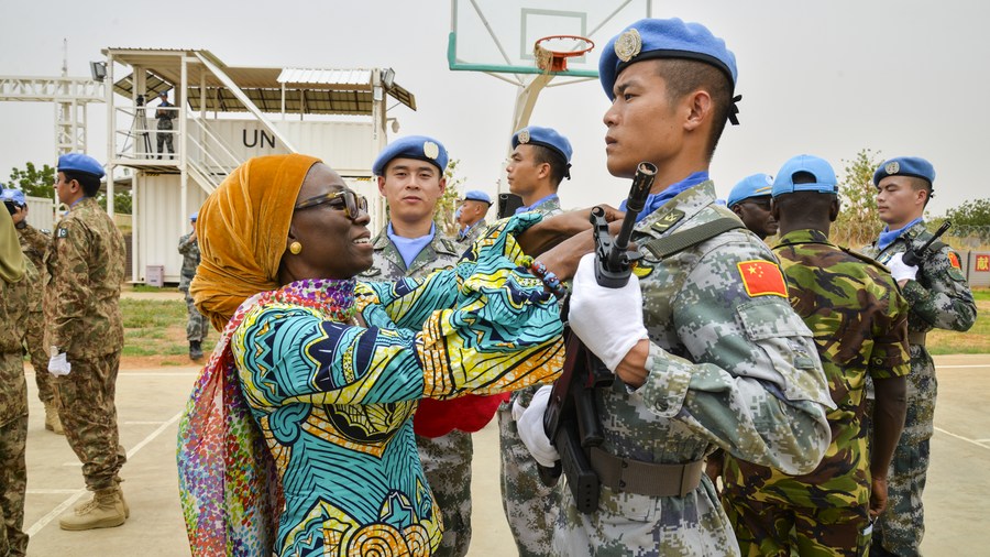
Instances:
[[[28,534],[22,529],[28,490],[28,382],[21,342],[38,273],[30,260],[26,267],[28,274],[16,283],[0,280],[0,555],[4,556],[25,555],[28,550]]]

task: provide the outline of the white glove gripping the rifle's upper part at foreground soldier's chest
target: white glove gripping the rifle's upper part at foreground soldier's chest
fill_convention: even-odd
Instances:
[[[584,346],[615,371],[629,350],[647,338],[642,293],[636,275],[622,288],[598,286],[594,259],[595,254],[588,253],[578,264],[568,323]]]

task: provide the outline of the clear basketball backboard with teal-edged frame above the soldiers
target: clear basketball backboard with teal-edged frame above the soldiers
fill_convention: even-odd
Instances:
[[[566,70],[552,74],[596,78],[605,43],[648,17],[650,0],[451,0],[448,63],[454,70],[544,74],[534,56],[537,40],[578,35],[594,41],[595,48],[569,58]],[[583,46],[575,41],[573,48]]]

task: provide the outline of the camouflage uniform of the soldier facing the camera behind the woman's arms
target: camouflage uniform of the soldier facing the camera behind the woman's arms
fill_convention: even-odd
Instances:
[[[388,225],[372,240],[375,259],[372,267],[358,275],[364,282],[393,282],[403,277],[421,278],[439,269],[452,267],[462,250],[437,228],[433,240],[424,248],[409,269],[386,233]],[[436,556],[463,557],[471,544],[471,434],[458,429],[441,437],[416,436],[419,459],[433,499],[443,517],[443,538]]]

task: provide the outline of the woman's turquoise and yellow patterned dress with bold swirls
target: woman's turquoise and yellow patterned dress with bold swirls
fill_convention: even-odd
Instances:
[[[438,547],[442,522],[413,435],[417,401],[552,381],[563,363],[542,284],[484,266],[398,283],[299,281],[246,303],[230,346],[282,480],[279,555]]]

